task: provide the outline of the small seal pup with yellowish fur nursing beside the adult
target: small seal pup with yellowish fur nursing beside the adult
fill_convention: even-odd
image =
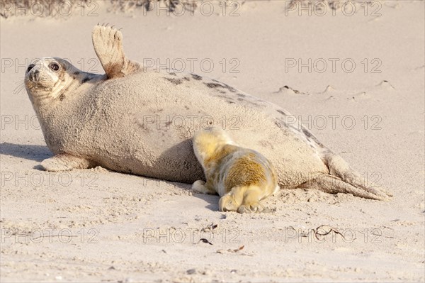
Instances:
[[[192,188],[219,194],[220,211],[263,211],[259,201],[279,189],[271,162],[259,152],[235,145],[220,128],[198,131],[193,150],[207,182],[198,180]]]

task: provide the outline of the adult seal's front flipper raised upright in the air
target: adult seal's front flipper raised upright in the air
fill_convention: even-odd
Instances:
[[[91,33],[94,51],[108,79],[125,77],[140,70],[140,64],[125,57],[123,34],[111,26],[95,26]]]

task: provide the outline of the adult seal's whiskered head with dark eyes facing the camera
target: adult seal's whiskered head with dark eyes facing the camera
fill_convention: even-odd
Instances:
[[[81,73],[67,60],[43,57],[30,64],[25,74],[25,86],[35,105],[57,99]]]

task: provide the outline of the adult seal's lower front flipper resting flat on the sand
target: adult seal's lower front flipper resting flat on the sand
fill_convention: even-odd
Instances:
[[[73,169],[86,169],[96,166],[96,162],[81,157],[60,153],[54,157],[42,160],[41,166],[46,171],[59,172]]]

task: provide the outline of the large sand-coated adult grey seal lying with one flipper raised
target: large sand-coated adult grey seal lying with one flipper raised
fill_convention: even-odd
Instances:
[[[95,26],[93,45],[106,74],[81,72],[44,57],[28,67],[25,85],[47,146],[48,171],[100,165],[110,170],[193,183],[203,168],[193,134],[221,126],[244,148],[272,162],[282,189],[311,188],[387,199],[275,104],[196,74],[146,70],[129,60],[123,36]]]

